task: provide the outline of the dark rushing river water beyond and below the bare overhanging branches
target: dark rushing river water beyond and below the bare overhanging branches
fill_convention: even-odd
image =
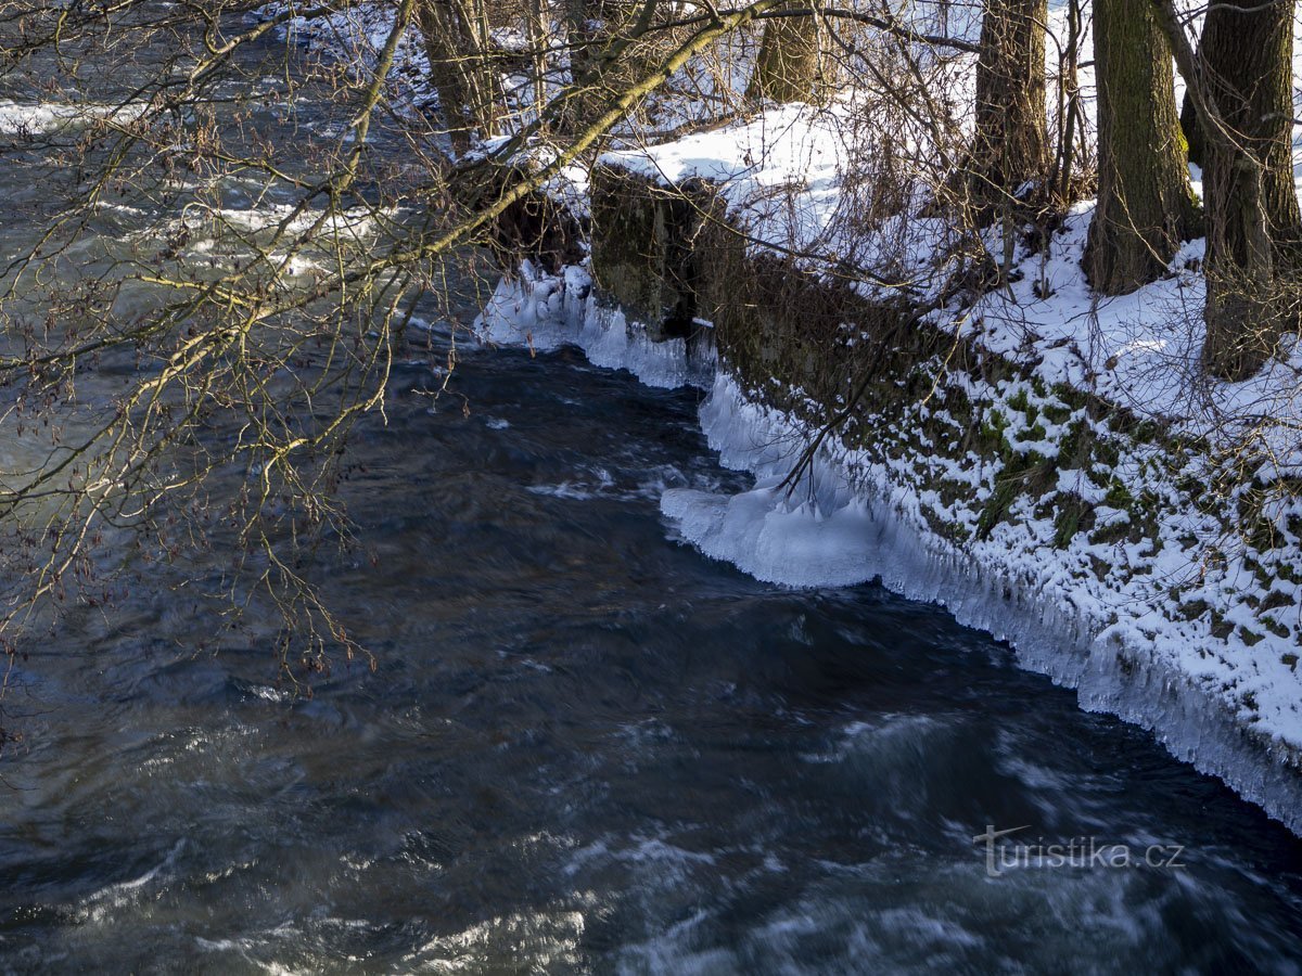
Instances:
[[[440,381],[358,432],[374,565],[322,557],[375,673],[294,698],[163,587],[33,655],[0,969],[1302,968],[1302,846],[1216,781],[943,610],[677,541],[664,488],[746,484],[698,393],[575,351],[469,350],[469,415]]]

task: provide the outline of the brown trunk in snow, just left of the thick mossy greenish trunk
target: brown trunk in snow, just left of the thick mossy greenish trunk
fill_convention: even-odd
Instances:
[[[976,60],[975,138],[967,161],[971,203],[988,213],[1049,170],[1044,118],[1048,0],[987,0]]]

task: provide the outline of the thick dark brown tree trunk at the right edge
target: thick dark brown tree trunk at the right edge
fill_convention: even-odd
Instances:
[[[1212,372],[1243,379],[1290,327],[1288,293],[1297,285],[1292,0],[1220,0],[1207,13],[1198,56],[1229,137],[1204,146],[1204,359]]]

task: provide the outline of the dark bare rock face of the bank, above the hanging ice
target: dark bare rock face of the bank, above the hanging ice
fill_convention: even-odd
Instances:
[[[858,407],[898,403],[907,398],[901,385],[932,357],[956,370],[980,359],[902,301],[870,301],[853,277],[814,275],[794,256],[750,246],[708,181],[667,186],[600,164],[591,200],[591,273],[602,297],[652,338],[710,323],[729,372],[802,419],[822,423],[855,396]],[[980,368],[1012,368],[984,360]]]

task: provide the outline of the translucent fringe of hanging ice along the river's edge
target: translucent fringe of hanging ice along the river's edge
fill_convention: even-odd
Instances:
[[[1073,599],[1062,575],[1013,575],[939,536],[911,514],[907,485],[857,465],[838,445],[820,452],[788,498],[777,484],[809,442],[803,424],[747,400],[711,354],[689,354],[681,340],[654,342],[621,312],[599,307],[585,272],[535,277],[526,267],[497,286],[477,331],[492,344],[575,345],[594,364],[626,368],[648,385],[708,389],[700,423],[710,445],[728,467],[751,471],[756,485],[736,496],[665,492],[661,510],[706,556],[772,583],[880,579],[901,596],[939,604],[960,623],[1006,640],[1021,666],[1075,688],[1086,711],[1150,730],[1173,756],[1302,834],[1294,746],[1251,726],[1230,699],[1180,668],[1138,627],[1108,625],[1091,595]]]

